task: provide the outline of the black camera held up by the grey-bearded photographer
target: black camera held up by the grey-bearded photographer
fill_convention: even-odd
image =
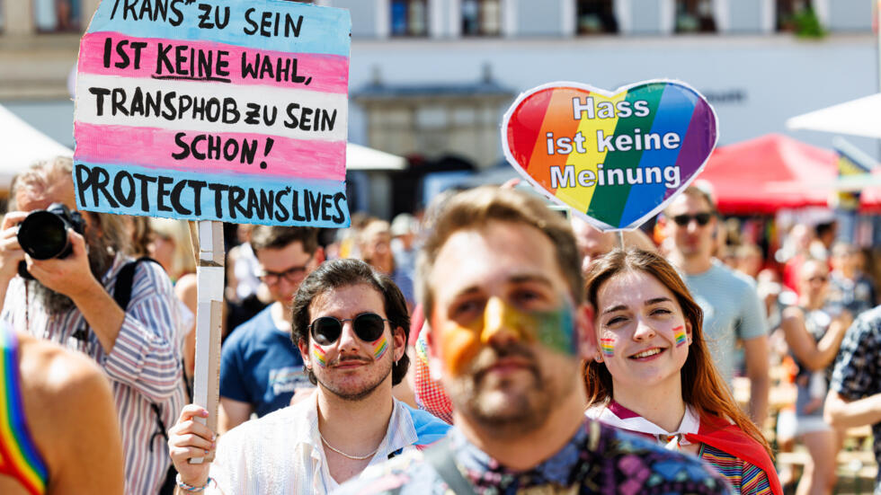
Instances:
[[[67,258],[73,252],[73,246],[67,239],[68,229],[83,234],[83,216],[76,210],[70,211],[62,203],[52,203],[49,208],[31,211],[24,217],[18,225],[18,243],[34,260]],[[33,279],[24,261],[18,264],[18,274]]]

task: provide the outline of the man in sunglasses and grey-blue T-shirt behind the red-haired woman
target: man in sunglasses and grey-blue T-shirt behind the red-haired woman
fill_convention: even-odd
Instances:
[[[737,341],[743,343],[750,414],[761,428],[768,416],[770,390],[768,323],[752,279],[713,258],[716,203],[705,190],[690,186],[673,199],[658,221],[672,239],[667,258],[704,311],[704,335],[728,385],[734,378]]]

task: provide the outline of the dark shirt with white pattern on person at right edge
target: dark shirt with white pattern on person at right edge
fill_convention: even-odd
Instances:
[[[844,334],[829,388],[846,401],[881,393],[881,306],[861,314]],[[872,425],[872,433],[875,458],[881,461],[881,423]],[[881,471],[875,491],[881,491]]]

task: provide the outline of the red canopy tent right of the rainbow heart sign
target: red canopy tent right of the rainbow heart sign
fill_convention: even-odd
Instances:
[[[769,134],[716,148],[699,179],[713,185],[725,215],[773,214],[782,208],[828,206],[836,162],[832,150]],[[881,195],[867,190],[862,203],[864,209],[877,209]]]

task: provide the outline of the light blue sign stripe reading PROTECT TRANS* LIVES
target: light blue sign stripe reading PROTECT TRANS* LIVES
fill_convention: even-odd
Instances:
[[[236,224],[349,226],[345,181],[75,162],[76,208]]]

